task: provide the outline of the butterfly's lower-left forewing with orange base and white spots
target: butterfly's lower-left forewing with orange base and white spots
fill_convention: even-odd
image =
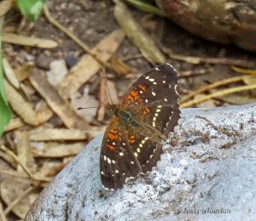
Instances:
[[[100,159],[102,185],[105,189],[118,189],[125,184],[127,178],[135,178],[141,171],[125,131],[114,117],[102,142]]]

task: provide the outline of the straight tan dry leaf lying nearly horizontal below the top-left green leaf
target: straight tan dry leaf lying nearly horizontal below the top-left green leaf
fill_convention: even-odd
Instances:
[[[37,48],[56,48],[58,46],[58,43],[53,40],[42,39],[38,37],[26,37],[11,33],[3,33],[2,37],[3,42],[19,44],[23,46]]]

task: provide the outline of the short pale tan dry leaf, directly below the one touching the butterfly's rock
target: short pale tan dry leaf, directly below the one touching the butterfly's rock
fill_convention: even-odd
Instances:
[[[76,142],[72,144],[61,144],[49,142],[43,150],[33,149],[35,157],[57,158],[77,155],[84,149],[84,142]]]

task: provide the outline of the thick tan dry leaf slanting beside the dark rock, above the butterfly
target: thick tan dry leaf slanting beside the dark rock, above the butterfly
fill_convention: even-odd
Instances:
[[[134,20],[125,3],[120,0],[113,0],[116,3],[114,16],[125,34],[139,48],[143,56],[152,64],[165,63],[165,55],[161,53],[154,41],[143,31],[143,28]]]

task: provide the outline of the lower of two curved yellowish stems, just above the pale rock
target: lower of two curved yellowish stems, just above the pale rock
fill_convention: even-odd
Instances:
[[[198,98],[198,99],[190,100],[190,101],[185,102],[182,105],[180,105],[180,107],[185,108],[185,107],[189,107],[189,106],[192,106],[192,105],[200,104],[200,103],[202,103],[202,102],[204,102],[208,99],[218,98],[218,97],[222,97],[222,96],[227,95],[227,94],[233,94],[233,93],[236,93],[236,92],[247,91],[247,90],[252,90],[252,89],[256,89],[256,84],[241,86],[241,87],[236,87],[236,88],[229,88],[229,89],[218,91],[216,93],[212,93],[212,94],[209,94],[209,95],[206,95],[206,96],[202,96],[201,98]]]

